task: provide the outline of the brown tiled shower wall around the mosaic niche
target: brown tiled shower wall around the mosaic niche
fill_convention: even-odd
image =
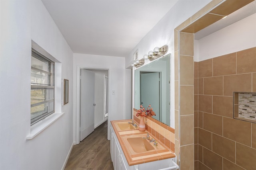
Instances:
[[[233,119],[233,92],[256,92],[256,47],[194,65],[194,72],[198,66],[198,78],[194,76],[194,86],[198,86],[194,90],[194,100],[198,100],[195,167],[255,169],[256,123]]]

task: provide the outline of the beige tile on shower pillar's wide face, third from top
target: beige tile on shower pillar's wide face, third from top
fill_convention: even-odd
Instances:
[[[180,86],[180,115],[194,114],[194,86]]]

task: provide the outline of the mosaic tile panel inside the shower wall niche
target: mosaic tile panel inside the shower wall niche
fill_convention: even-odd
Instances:
[[[256,121],[256,93],[238,94],[238,117]]]

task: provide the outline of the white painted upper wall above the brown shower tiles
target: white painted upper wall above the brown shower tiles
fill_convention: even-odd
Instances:
[[[195,61],[256,47],[256,14],[195,41]]]

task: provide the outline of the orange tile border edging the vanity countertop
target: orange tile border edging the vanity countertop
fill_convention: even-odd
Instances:
[[[132,166],[132,165],[137,165],[137,164],[143,164],[143,163],[147,163],[147,162],[152,162],[152,161],[157,161],[157,160],[163,160],[163,159],[167,159],[167,158],[174,158],[176,157],[176,155],[169,149],[167,149],[167,147],[160,141],[158,141],[158,143],[160,143],[162,146],[164,146],[165,149],[167,149],[169,152],[170,152],[170,157],[169,156],[166,156],[166,154],[164,154],[165,156],[161,156],[161,153],[158,153],[160,155],[156,155],[156,156],[152,156],[150,158],[146,158],[146,159],[143,159],[143,158],[138,158],[136,160],[132,160],[132,157],[131,155],[128,153],[128,150],[126,149],[126,146],[124,145],[124,142],[122,141],[121,137],[120,137],[120,134],[119,134],[119,131],[116,129],[116,126],[114,124],[114,122],[124,122],[124,121],[132,121],[134,119],[126,119],[126,120],[115,120],[115,121],[110,121],[111,122],[111,125],[114,129],[114,132],[116,133],[116,136],[118,138],[118,141],[120,143],[120,146],[124,152],[124,156],[126,157],[126,160],[129,164],[129,166]],[[135,120],[134,120],[135,121]],[[129,131],[129,130],[128,130]],[[147,130],[145,132],[148,132]],[[140,132],[138,132],[140,133]],[[151,136],[154,136],[150,133]],[[141,156],[140,156],[141,157]]]

